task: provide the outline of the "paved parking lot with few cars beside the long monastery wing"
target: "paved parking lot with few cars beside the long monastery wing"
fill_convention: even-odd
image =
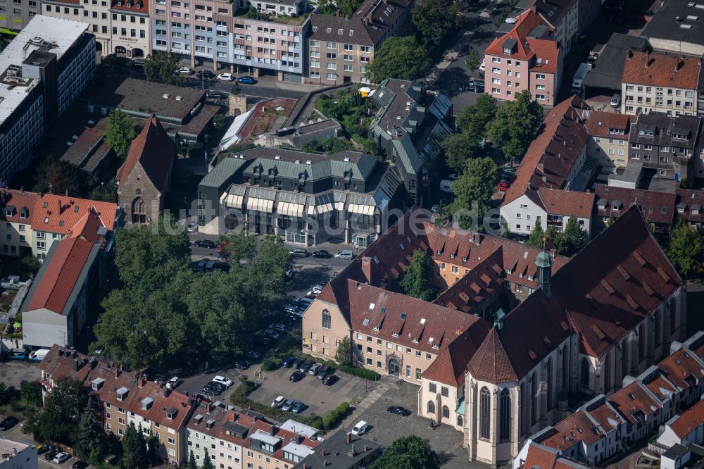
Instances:
[[[291,368],[279,368],[278,370],[264,372],[263,382],[256,391],[249,394],[249,398],[270,405],[277,397],[283,395],[286,399],[294,399],[306,404],[302,415],[325,415],[346,401],[351,407],[358,399],[365,396],[377,384],[359,377],[336,372],[339,380],[332,386],[325,386],[322,380],[318,380],[313,375],[306,374],[303,380],[298,382],[289,381],[293,373]]]

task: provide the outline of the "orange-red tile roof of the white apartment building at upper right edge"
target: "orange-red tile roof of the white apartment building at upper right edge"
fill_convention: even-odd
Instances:
[[[696,89],[700,68],[700,58],[628,51],[624,56],[622,81],[655,87]]]

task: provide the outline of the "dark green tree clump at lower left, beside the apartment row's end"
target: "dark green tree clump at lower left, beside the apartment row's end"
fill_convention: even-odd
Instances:
[[[70,377],[61,377],[46,396],[46,405],[30,412],[25,422],[25,432],[38,442],[54,441],[74,446],[77,441],[78,423],[88,404],[88,389]]]

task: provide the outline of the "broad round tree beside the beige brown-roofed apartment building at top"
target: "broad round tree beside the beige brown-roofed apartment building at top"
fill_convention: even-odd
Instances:
[[[425,47],[413,36],[392,36],[382,43],[374,60],[367,65],[367,77],[374,83],[381,83],[386,78],[415,80],[425,76],[431,66]]]

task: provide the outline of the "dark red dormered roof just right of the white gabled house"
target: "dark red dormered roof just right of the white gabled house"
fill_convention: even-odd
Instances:
[[[631,205],[636,205],[646,220],[672,225],[675,212],[675,194],[645,189],[629,189],[628,187],[612,187],[603,184],[596,185],[594,194],[596,194],[596,205],[594,206],[596,215],[619,218],[620,215],[626,213]],[[618,210],[614,210],[615,202],[619,207]],[[600,204],[605,204],[604,208],[601,208]],[[662,207],[665,207],[664,212]]]

